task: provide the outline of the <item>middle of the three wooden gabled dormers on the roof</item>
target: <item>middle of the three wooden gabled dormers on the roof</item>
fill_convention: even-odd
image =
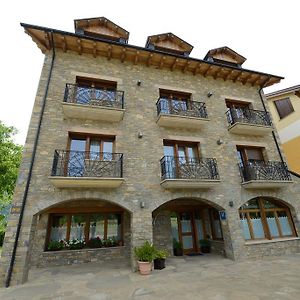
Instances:
[[[145,47],[149,48],[149,45],[151,44],[155,47],[165,48],[179,53],[190,54],[193,50],[192,45],[185,42],[172,32],[148,36]]]

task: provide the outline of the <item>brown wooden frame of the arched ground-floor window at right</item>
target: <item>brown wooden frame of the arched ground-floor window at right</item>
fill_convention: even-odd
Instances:
[[[293,222],[293,219],[292,219],[292,216],[291,216],[291,212],[290,212],[290,209],[287,206],[281,204],[283,207],[265,208],[264,207],[264,201],[270,201],[274,205],[278,205],[278,204],[277,204],[276,201],[271,201],[269,199],[264,199],[264,198],[258,198],[257,201],[258,201],[259,208],[246,208],[246,209],[240,208],[239,209],[239,214],[243,214],[247,219],[248,229],[249,229],[249,233],[250,233],[250,239],[247,239],[247,240],[264,240],[264,239],[272,240],[274,238],[276,239],[276,238],[296,237],[297,236],[297,233],[296,233],[296,230],[295,230],[295,225],[294,225],[294,222]],[[284,211],[286,213],[289,225],[290,225],[291,230],[292,230],[292,235],[283,235],[282,234],[282,228],[281,228],[280,222],[278,220],[278,215],[277,215],[277,212],[280,212],[280,211]],[[261,216],[261,222],[262,222],[265,238],[255,238],[254,237],[254,231],[253,231],[252,222],[251,222],[251,218],[250,218],[249,214],[250,213],[257,213],[257,212],[260,213],[260,216]],[[274,213],[274,217],[275,217],[275,220],[276,220],[276,225],[277,225],[279,237],[273,237],[272,238],[271,232],[270,232],[270,229],[269,229],[269,225],[268,225],[268,222],[267,222],[266,212],[273,212]],[[241,218],[241,216],[240,216],[240,218]]]

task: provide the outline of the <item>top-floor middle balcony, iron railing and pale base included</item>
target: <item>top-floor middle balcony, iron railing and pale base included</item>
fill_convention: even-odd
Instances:
[[[159,98],[157,121],[162,127],[200,129],[207,121],[205,103]]]

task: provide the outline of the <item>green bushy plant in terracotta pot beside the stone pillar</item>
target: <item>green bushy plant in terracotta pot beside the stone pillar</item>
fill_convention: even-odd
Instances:
[[[155,254],[153,245],[146,241],[142,246],[134,248],[134,254],[138,260],[138,266],[141,275],[150,274],[151,263]]]

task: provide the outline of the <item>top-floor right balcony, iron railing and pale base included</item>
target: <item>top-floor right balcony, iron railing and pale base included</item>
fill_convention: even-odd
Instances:
[[[265,111],[230,108],[226,116],[231,133],[263,136],[272,131],[271,119]]]

